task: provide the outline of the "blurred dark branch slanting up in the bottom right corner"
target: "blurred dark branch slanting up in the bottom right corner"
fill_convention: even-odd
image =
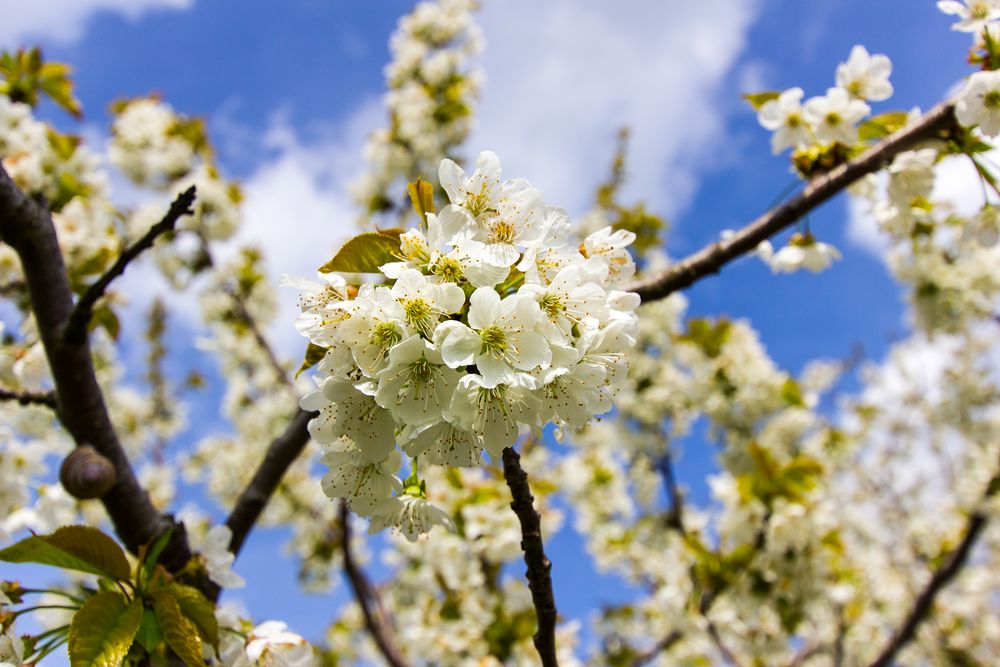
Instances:
[[[1000,473],[994,475],[993,479],[990,480],[984,494],[983,502],[987,502],[998,492],[1000,492]],[[917,596],[916,601],[914,601],[913,608],[907,615],[903,625],[892,636],[888,645],[882,649],[878,658],[868,667],[887,667],[892,663],[893,658],[900,649],[913,640],[917,634],[917,628],[931,615],[938,593],[962,571],[966,561],[969,559],[972,547],[975,546],[976,540],[986,527],[987,518],[986,512],[982,509],[976,510],[969,515],[969,520],[965,524],[965,535],[962,537],[961,543],[948,555],[941,567],[934,572],[931,580],[927,582],[927,586],[924,587],[924,590]]]

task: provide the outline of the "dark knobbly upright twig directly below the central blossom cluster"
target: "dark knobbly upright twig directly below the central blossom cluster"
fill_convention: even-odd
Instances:
[[[514,498],[510,506],[521,522],[521,550],[528,566],[528,588],[538,617],[535,648],[543,667],[558,667],[556,659],[556,599],[552,592],[552,562],[545,556],[542,543],[542,520],[535,510],[535,499],[528,486],[528,474],[521,467],[521,457],[512,447],[503,450],[503,476]]]

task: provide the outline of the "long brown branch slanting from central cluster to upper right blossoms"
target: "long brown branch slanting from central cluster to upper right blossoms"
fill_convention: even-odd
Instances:
[[[725,241],[706,246],[672,264],[661,274],[624,287],[643,301],[662,299],[690,287],[701,278],[718,273],[730,261],[756,249],[761,241],[790,227],[810,211],[859,178],[889,164],[898,154],[928,139],[946,137],[955,124],[954,105],[939,104],[915,123],[892,134],[858,157],[817,176],[799,194],[771,209]]]

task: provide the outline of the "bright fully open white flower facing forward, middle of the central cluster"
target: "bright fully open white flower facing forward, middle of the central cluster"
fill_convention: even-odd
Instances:
[[[475,364],[487,387],[509,382],[516,370],[545,366],[552,359],[545,338],[534,331],[541,309],[533,299],[501,300],[489,287],[469,297],[469,325],[449,320],[434,332],[434,343],[451,368]]]

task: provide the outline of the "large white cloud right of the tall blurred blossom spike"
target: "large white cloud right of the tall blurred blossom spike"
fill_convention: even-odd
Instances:
[[[469,151],[496,151],[505,173],[580,212],[628,124],[629,192],[676,214],[724,150],[718,93],[756,4],[486,3],[486,86]]]

